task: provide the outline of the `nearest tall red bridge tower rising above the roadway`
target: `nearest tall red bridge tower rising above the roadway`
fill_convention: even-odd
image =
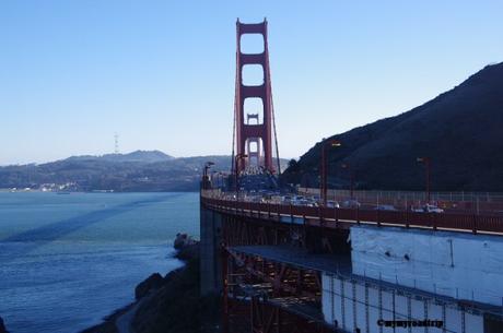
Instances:
[[[246,52],[242,49],[244,35],[258,35],[264,43],[261,52]],[[245,24],[236,22],[236,83],[234,99],[234,143],[233,168],[239,174],[250,164],[250,157],[259,158],[259,166],[276,173],[273,146],[277,147],[274,117],[271,94],[271,76],[269,69],[269,51],[267,40],[267,20],[261,23]],[[244,68],[249,66],[258,69],[262,78],[259,84],[245,84],[247,78]],[[249,119],[254,119],[250,123]],[[249,152],[250,142],[258,145],[258,152]],[[234,151],[235,150],[235,151]],[[235,152],[235,154],[234,154]],[[245,156],[243,158],[243,156]],[[278,150],[276,150],[278,155]],[[276,156],[278,157],[278,156]],[[237,160],[235,160],[237,158]],[[279,159],[278,159],[279,160]],[[237,164],[235,164],[237,162]],[[279,168],[278,168],[279,169]]]

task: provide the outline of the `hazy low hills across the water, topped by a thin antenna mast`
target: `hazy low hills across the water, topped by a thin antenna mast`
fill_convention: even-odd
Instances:
[[[230,171],[231,156],[175,158],[160,151],[137,151],[0,167],[0,189],[197,191],[209,160],[214,163],[211,171]]]

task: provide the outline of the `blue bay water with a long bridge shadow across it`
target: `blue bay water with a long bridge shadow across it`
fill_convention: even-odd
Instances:
[[[199,237],[198,193],[0,192],[0,317],[11,333],[79,332],[182,265]]]

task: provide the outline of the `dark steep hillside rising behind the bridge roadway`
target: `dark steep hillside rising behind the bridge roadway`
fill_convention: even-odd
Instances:
[[[503,63],[410,111],[329,139],[331,187],[347,187],[348,168],[361,189],[422,190],[431,159],[432,190],[503,191]],[[320,143],[284,173],[288,182],[317,186]]]

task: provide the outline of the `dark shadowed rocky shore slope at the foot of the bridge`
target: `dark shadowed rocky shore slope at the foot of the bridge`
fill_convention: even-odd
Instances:
[[[188,238],[190,239],[190,238]],[[199,241],[176,245],[173,255],[184,262],[165,276],[151,274],[134,289],[136,300],[79,333],[218,332],[218,296],[199,295]],[[179,304],[179,306],[178,306]],[[207,310],[210,309],[210,310]],[[209,312],[209,313],[207,313]]]

